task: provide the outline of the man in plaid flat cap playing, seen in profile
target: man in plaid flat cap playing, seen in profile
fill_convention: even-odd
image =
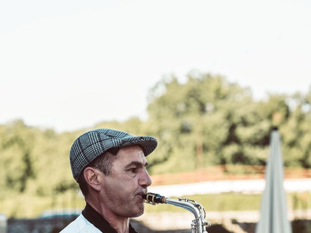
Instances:
[[[156,146],[154,137],[111,129],[79,136],[70,150],[70,166],[86,207],[61,233],[136,233],[129,217],[144,212],[141,196],[151,185],[145,156]]]

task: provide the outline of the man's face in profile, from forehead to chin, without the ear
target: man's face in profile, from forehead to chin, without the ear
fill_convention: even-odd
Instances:
[[[121,148],[117,156],[109,175],[103,174],[102,201],[117,216],[140,216],[144,212],[141,195],[151,184],[146,158],[137,145]]]

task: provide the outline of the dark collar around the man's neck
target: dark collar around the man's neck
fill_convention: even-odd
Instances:
[[[92,223],[96,228],[98,228],[103,233],[117,233],[117,231],[112,228],[106,219],[104,219],[103,216],[100,215],[96,210],[92,208],[89,204],[86,203],[86,207],[82,211],[82,215]],[[138,233],[135,231],[135,229],[132,227],[132,225],[129,225],[129,232],[130,233]]]

